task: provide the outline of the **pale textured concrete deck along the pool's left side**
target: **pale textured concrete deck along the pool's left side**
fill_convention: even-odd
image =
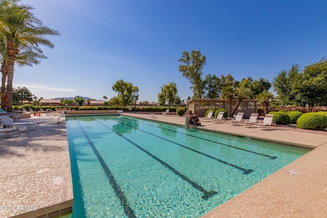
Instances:
[[[0,217],[53,217],[72,211],[73,186],[65,123],[32,116],[35,130],[0,135]],[[58,216],[56,216],[58,217]]]

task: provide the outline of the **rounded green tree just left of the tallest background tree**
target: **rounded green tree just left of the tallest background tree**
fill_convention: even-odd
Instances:
[[[177,85],[174,82],[170,82],[169,84],[164,84],[162,87],[160,87],[161,91],[158,94],[158,102],[166,103],[166,101],[169,104],[169,107],[175,103],[178,99],[178,90]],[[180,100],[180,99],[179,99]]]

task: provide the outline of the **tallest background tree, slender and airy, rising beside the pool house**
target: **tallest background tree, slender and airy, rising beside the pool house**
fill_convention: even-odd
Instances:
[[[182,57],[178,60],[184,65],[179,65],[179,71],[182,72],[183,77],[188,79],[191,83],[190,89],[193,89],[193,98],[202,99],[204,94],[204,83],[202,81],[202,69],[205,65],[206,57],[201,55],[200,50],[183,52]]]

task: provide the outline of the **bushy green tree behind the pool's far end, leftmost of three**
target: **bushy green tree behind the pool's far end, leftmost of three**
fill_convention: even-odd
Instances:
[[[123,106],[130,105],[133,103],[134,95],[133,93],[138,92],[137,86],[133,86],[132,83],[124,82],[123,80],[118,80],[113,84],[112,90],[117,92],[117,98],[120,98],[120,102]]]

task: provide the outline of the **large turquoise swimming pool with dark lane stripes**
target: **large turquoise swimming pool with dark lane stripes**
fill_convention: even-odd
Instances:
[[[74,217],[200,217],[308,152],[121,115],[66,124]]]

